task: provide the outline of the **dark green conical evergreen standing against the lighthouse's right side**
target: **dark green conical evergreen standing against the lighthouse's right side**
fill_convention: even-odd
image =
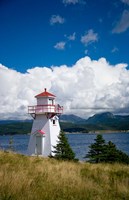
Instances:
[[[54,158],[58,160],[76,160],[75,153],[72,151],[68,143],[68,139],[63,131],[60,132],[58,136],[58,143],[56,146],[54,146],[54,148]]]

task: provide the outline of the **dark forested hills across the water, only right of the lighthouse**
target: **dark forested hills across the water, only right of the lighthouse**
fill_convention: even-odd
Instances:
[[[65,120],[66,119],[66,120]],[[74,130],[81,130],[82,132],[98,131],[98,130],[112,130],[112,131],[128,131],[129,130],[129,116],[113,115],[110,112],[96,114],[89,117],[87,120],[77,116],[68,118],[64,116],[62,128],[64,131],[74,132]],[[69,123],[68,123],[69,120]],[[71,123],[70,123],[71,122]],[[67,126],[66,126],[67,125]]]

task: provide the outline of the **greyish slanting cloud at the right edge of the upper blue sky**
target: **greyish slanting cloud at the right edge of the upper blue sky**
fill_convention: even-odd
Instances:
[[[124,10],[112,33],[122,33],[129,28],[129,11]]]

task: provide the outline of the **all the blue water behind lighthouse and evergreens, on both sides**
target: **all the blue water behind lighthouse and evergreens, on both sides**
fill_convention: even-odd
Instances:
[[[96,134],[67,134],[70,146],[79,160],[84,160],[84,156],[89,151],[89,145],[94,143]],[[29,135],[0,136],[0,148],[10,149],[22,154],[27,154]],[[103,138],[106,142],[112,141],[118,149],[129,155],[129,133],[105,133]],[[12,141],[12,144],[9,144]]]

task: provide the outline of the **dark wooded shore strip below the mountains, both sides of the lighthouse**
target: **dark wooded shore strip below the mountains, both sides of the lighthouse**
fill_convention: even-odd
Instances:
[[[96,131],[127,131],[129,130],[129,124],[123,125],[116,123],[114,125],[105,125],[103,124],[80,124],[80,123],[71,123],[71,122],[60,122],[61,129],[64,132],[96,132]],[[15,134],[28,134],[31,132],[32,121],[10,121],[8,123],[0,123],[0,135],[15,135]]]

